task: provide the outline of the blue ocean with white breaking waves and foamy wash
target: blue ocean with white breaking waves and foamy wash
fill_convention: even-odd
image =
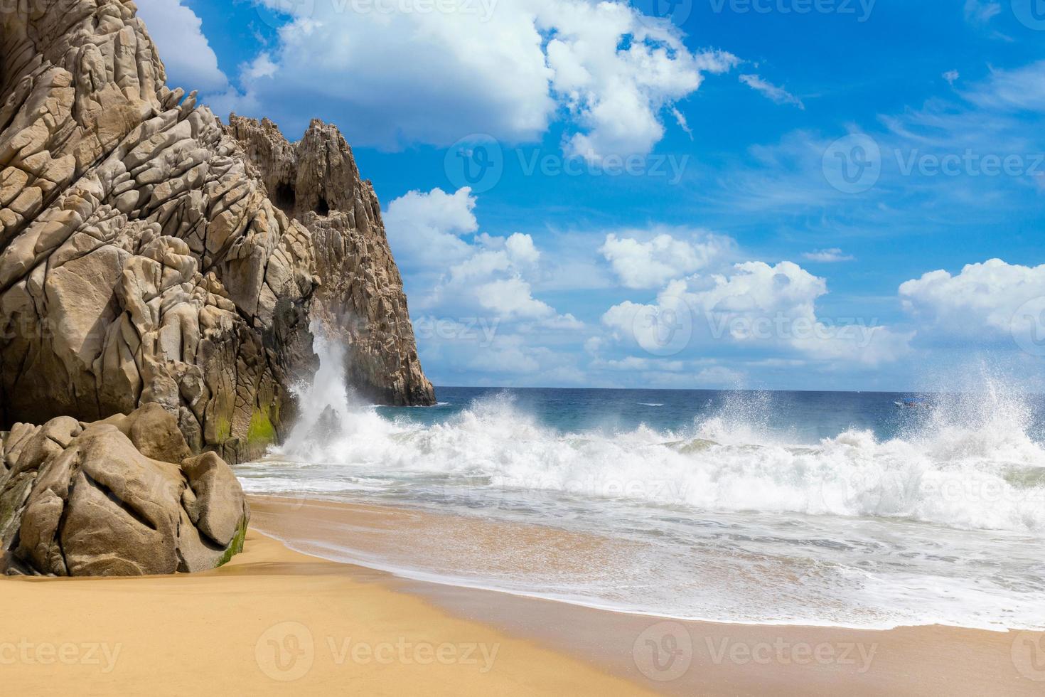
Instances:
[[[598,543],[562,564],[512,536],[385,556],[346,536],[332,559],[668,618],[1045,629],[1041,396],[443,387],[394,409],[346,394],[338,365],[236,468],[248,492]]]

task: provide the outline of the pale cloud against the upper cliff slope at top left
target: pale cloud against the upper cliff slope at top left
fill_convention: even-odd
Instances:
[[[203,34],[203,21],[182,0],[138,0],[137,5],[172,87],[201,93],[229,89],[217,55]]]

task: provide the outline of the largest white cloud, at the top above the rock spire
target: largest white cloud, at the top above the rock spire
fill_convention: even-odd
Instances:
[[[676,102],[705,74],[738,63],[691,51],[678,29],[641,21],[625,2],[501,0],[487,8],[460,0],[450,3],[456,11],[427,13],[402,3],[397,11],[282,4],[299,15],[279,31],[277,69],[248,69],[241,103],[222,106],[292,131],[318,115],[342,123],[357,145],[447,145],[474,133],[533,141],[566,118],[570,155],[643,155]]]

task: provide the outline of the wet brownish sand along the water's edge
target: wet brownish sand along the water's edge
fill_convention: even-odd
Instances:
[[[322,542],[324,535],[344,534],[346,529],[372,535],[378,532],[375,518],[401,536],[418,529],[442,529],[439,514],[413,509],[250,498],[255,525],[268,527],[305,553],[321,553],[310,548],[309,538]],[[503,524],[486,525],[495,529]],[[387,541],[381,535],[375,539]],[[416,543],[416,539],[411,541]],[[1045,689],[1045,671],[1039,675],[1035,668],[1037,655],[1020,653],[1045,647],[1042,632],[943,625],[879,630],[672,620],[379,573],[388,575],[393,587],[421,596],[451,613],[526,636],[661,694],[829,695],[844,690],[874,695],[947,690],[956,695],[1040,695]],[[682,663],[670,661],[670,651],[678,647],[684,669]]]

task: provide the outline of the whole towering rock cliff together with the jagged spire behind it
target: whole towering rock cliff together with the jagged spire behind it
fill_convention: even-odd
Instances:
[[[54,0],[0,15],[0,427],[157,403],[192,451],[257,457],[315,371],[318,287],[319,319],[359,321],[345,335],[361,385],[431,403],[344,140],[328,126],[294,147],[272,138],[271,163],[293,177],[250,164],[194,93],[164,85],[135,10]]]

